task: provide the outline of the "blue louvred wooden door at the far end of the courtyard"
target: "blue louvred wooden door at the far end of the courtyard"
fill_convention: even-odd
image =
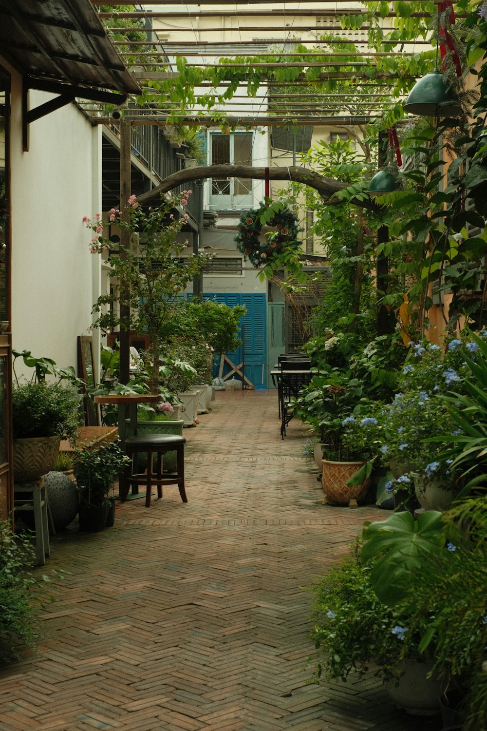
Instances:
[[[204,299],[214,299],[223,302],[229,307],[243,305],[247,309],[244,317],[240,319],[240,338],[242,345],[233,353],[226,356],[236,366],[243,361],[245,377],[256,387],[267,385],[267,359],[266,359],[266,295],[244,295],[244,294],[204,294]],[[219,362],[215,363],[214,375],[218,376]],[[228,363],[223,368],[223,375],[231,370]],[[240,376],[232,376],[239,380]]]

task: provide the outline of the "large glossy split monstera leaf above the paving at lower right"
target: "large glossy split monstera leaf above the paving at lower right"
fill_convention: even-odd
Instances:
[[[364,561],[378,557],[370,573],[375,594],[393,607],[408,596],[410,575],[421,570],[423,558],[445,550],[446,532],[442,514],[435,510],[418,520],[410,512],[395,512],[387,520],[365,523],[363,539]]]

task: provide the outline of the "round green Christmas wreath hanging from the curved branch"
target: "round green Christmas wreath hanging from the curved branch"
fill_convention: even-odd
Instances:
[[[261,238],[263,214],[264,220],[267,219],[266,223],[277,229],[277,231],[267,234],[264,239]],[[300,249],[301,242],[298,239],[298,232],[298,219],[292,211],[282,208],[272,215],[272,208],[269,211],[269,208],[262,204],[258,210],[242,213],[239,219],[238,234],[234,240],[237,241],[237,249],[242,251],[245,260],[249,259],[257,269],[279,258],[284,250],[297,251]]]

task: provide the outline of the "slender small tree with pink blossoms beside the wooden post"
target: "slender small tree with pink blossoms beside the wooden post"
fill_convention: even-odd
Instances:
[[[126,208],[119,211],[112,208],[109,221],[120,230],[128,232],[129,243],[123,249],[123,256],[110,256],[113,244],[103,236],[104,224],[99,213],[93,219],[85,216],[83,222],[94,233],[89,244],[92,254],[108,253],[111,270],[108,276],[118,279],[119,287],[113,287],[109,294],[102,295],[93,306],[96,314],[94,327],[112,331],[120,326],[123,330],[134,330],[138,335],[148,335],[153,367],[150,376],[150,391],[158,393],[158,364],[160,344],[164,340],[164,325],[170,318],[177,295],[198,273],[202,265],[210,260],[207,254],[191,254],[182,258],[186,243],[178,238],[188,219],[188,213],[179,218],[178,211],[188,203],[191,190],[163,199],[158,208],[145,211],[132,195]],[[117,314],[118,303],[129,308],[129,316]]]

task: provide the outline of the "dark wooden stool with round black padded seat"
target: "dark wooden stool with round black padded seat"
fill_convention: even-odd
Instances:
[[[151,485],[157,485],[157,496],[162,497],[163,485],[177,485],[183,502],[188,502],[184,489],[184,436],[179,434],[145,434],[128,436],[124,444],[131,457],[131,464],[126,466],[125,486],[120,491],[120,500],[126,500],[131,485],[145,485],[145,507],[150,507]],[[134,473],[134,456],[139,452],[147,452],[147,474]],[[176,452],[177,474],[162,473],[163,455]],[[157,455],[157,471],[153,471],[153,454]]]

